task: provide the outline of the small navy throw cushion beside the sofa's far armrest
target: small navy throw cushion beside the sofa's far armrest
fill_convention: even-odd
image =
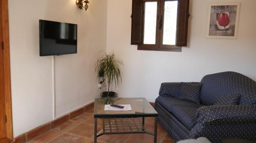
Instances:
[[[181,82],[180,95],[178,98],[186,101],[200,103],[201,83]]]

